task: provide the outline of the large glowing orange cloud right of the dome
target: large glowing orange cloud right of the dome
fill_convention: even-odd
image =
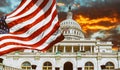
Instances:
[[[86,32],[86,30],[109,30],[114,28],[116,26],[115,23],[118,22],[117,18],[103,17],[90,19],[82,15],[76,15],[75,20],[81,25],[84,32]]]

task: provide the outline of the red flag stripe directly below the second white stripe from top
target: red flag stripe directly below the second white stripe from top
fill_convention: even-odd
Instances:
[[[45,0],[45,1],[38,7],[38,9],[36,9],[33,13],[31,13],[31,14],[29,14],[29,15],[27,15],[27,16],[24,16],[24,17],[22,17],[22,18],[19,18],[19,19],[15,20],[15,21],[12,21],[11,23],[8,24],[8,27],[11,28],[11,27],[15,26],[16,24],[20,24],[20,23],[22,23],[22,22],[24,22],[24,21],[27,21],[27,20],[33,18],[40,10],[43,9],[43,7],[48,3],[48,1],[49,1],[49,0]]]

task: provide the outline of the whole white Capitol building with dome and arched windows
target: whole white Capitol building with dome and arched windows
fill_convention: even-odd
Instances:
[[[85,38],[72,13],[60,24],[65,39],[46,52],[22,50],[0,56],[0,70],[115,70],[120,52],[112,42]]]

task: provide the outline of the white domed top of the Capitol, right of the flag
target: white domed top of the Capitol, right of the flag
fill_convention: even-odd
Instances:
[[[60,23],[61,30],[65,39],[80,39],[84,38],[84,33],[81,26],[72,19],[72,12],[67,13],[67,19]]]

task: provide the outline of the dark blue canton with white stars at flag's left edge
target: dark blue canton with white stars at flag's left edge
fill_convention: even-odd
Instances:
[[[0,34],[6,34],[9,32],[5,19],[6,19],[6,16],[3,16],[0,18]]]

